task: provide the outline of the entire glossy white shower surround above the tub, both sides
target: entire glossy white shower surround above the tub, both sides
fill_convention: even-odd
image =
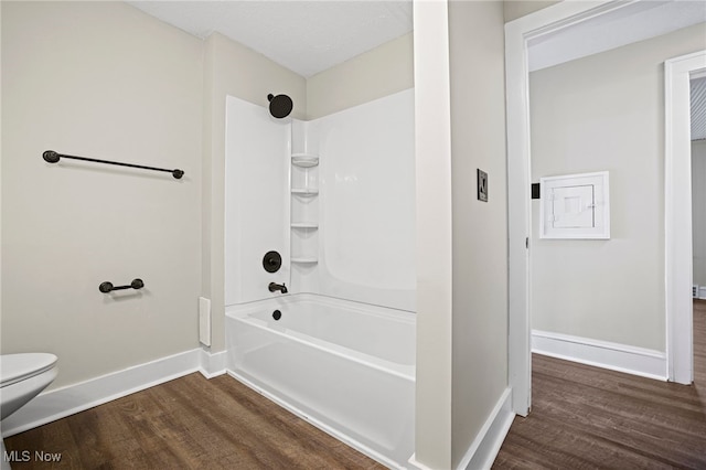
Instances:
[[[303,178],[291,156],[301,153],[319,157],[308,175],[315,196],[290,194]],[[228,96],[225,194],[226,306],[277,297],[267,286],[286,282],[293,293],[415,311],[411,88],[312,121]],[[290,229],[302,218],[318,228]],[[317,263],[290,263],[301,244]],[[269,250],[282,255],[275,274],[261,266]]]

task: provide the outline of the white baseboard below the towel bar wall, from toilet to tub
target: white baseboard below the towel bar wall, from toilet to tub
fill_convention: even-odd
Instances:
[[[214,377],[225,373],[225,352],[210,354],[199,348],[44,392],[2,421],[2,437],[45,425],[193,372],[199,371],[207,378]]]

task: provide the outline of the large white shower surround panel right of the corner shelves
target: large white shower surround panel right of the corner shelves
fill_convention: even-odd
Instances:
[[[415,310],[414,90],[312,120],[304,140],[320,157],[319,293]]]

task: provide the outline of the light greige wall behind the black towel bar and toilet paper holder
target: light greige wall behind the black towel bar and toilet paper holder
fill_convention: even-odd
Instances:
[[[202,42],[125,3],[1,8],[2,353],[57,354],[61,387],[196,348]]]

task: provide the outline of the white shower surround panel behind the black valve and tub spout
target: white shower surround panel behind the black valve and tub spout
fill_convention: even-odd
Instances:
[[[280,296],[269,282],[289,286],[289,154],[291,119],[226,98],[225,305]],[[263,257],[282,257],[267,273]]]

